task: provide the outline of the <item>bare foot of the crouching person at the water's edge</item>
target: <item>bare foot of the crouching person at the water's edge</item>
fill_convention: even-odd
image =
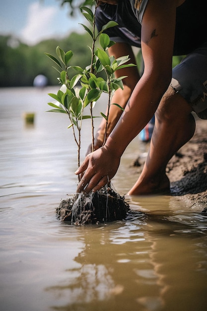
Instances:
[[[138,181],[128,192],[128,195],[144,195],[144,194],[166,194],[170,192],[170,181],[166,174],[159,175],[157,179],[151,178],[146,181],[141,176]]]

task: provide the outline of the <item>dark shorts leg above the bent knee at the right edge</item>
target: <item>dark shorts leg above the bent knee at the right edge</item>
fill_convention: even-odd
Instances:
[[[207,120],[207,42],[173,69],[170,85]]]

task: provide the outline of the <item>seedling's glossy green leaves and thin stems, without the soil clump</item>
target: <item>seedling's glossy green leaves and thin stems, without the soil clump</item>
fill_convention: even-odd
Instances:
[[[123,89],[122,79],[125,77],[115,78],[114,73],[122,68],[136,66],[134,64],[126,64],[129,61],[129,56],[123,56],[115,59],[113,56],[109,57],[107,49],[115,44],[111,41],[109,36],[104,31],[110,27],[118,25],[115,21],[110,21],[104,25],[100,32],[97,33],[95,27],[95,13],[97,9],[98,0],[88,0],[90,8],[82,6],[81,11],[85,16],[88,24],[81,24],[85,31],[89,34],[92,40],[91,46],[91,63],[84,69],[79,66],[69,66],[70,60],[73,56],[72,51],[64,52],[59,46],[56,49],[57,57],[51,54],[45,53],[53,62],[55,62],[55,69],[59,72],[59,83],[62,84],[57,94],[50,93],[49,95],[55,99],[55,102],[49,102],[48,104],[54,109],[50,112],[65,113],[68,115],[70,125],[68,128],[72,128],[74,141],[77,145],[77,165],[80,165],[80,146],[81,146],[81,126],[82,120],[91,119],[91,141],[92,151],[94,151],[94,125],[93,125],[93,107],[102,93],[108,94],[107,114],[101,112],[102,117],[106,120],[105,128],[105,140],[107,133],[107,124],[109,118],[109,110],[111,100],[114,92],[118,88]],[[95,4],[95,11],[92,12],[91,7]],[[98,40],[99,39],[99,40]],[[96,48],[96,42],[98,40],[99,46]],[[75,75],[69,79],[69,72],[75,72]],[[105,73],[105,78],[98,77],[100,72]],[[71,75],[70,75],[71,76]],[[77,87],[77,83],[80,86]],[[90,105],[90,115],[85,115],[85,107]],[[119,104],[120,109],[124,110]],[[76,130],[75,130],[76,129]],[[105,140],[103,144],[105,144]],[[78,176],[78,180],[80,177]]]

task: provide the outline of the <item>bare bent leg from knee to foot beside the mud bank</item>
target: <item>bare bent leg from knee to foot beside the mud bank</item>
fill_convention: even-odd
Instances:
[[[196,125],[191,112],[188,102],[169,86],[155,113],[155,126],[146,162],[129,195],[170,190],[166,165],[194,135]]]

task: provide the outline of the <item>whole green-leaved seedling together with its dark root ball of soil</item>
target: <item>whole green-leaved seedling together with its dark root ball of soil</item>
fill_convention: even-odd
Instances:
[[[89,1],[95,4],[95,12],[97,9],[97,0]],[[111,41],[109,36],[104,33],[107,28],[117,25],[116,22],[110,21],[104,25],[100,32],[97,33],[95,27],[95,12],[91,8],[82,6],[82,14],[89,22],[89,26],[82,24],[84,29],[89,34],[92,45],[91,63],[86,68],[82,69],[79,66],[69,66],[70,60],[73,56],[72,51],[64,52],[59,46],[56,49],[57,57],[45,53],[57,66],[56,70],[59,72],[58,78],[62,84],[57,94],[50,93],[49,95],[56,100],[56,102],[49,102],[48,104],[54,109],[50,112],[65,113],[69,117],[72,128],[74,141],[77,145],[77,165],[80,165],[80,147],[81,147],[81,126],[84,119],[91,119],[91,140],[92,152],[94,151],[94,124],[93,124],[93,107],[102,93],[108,94],[107,114],[101,112],[101,115],[106,120],[105,140],[107,133],[107,124],[109,118],[109,110],[114,92],[118,88],[123,89],[123,82],[121,78],[114,78],[114,73],[122,68],[135,66],[133,64],[126,64],[129,61],[128,56],[115,59],[113,56],[109,57],[106,53],[107,49],[115,42]],[[95,48],[95,44],[99,39],[99,47]],[[69,80],[69,72],[75,71],[76,74]],[[106,78],[98,77],[100,72],[105,73]],[[80,82],[81,87],[77,87]],[[85,108],[90,105],[90,115],[85,115]],[[119,104],[117,105],[123,110]],[[104,143],[105,144],[105,140]],[[78,176],[78,181],[80,177]],[[110,204],[111,202],[111,204]],[[112,207],[111,207],[111,206]],[[57,209],[58,215],[64,221],[69,221],[75,224],[84,224],[99,221],[112,221],[123,219],[129,210],[129,205],[124,202],[124,197],[121,197],[111,187],[105,186],[96,193],[76,194],[73,198],[63,200]]]

